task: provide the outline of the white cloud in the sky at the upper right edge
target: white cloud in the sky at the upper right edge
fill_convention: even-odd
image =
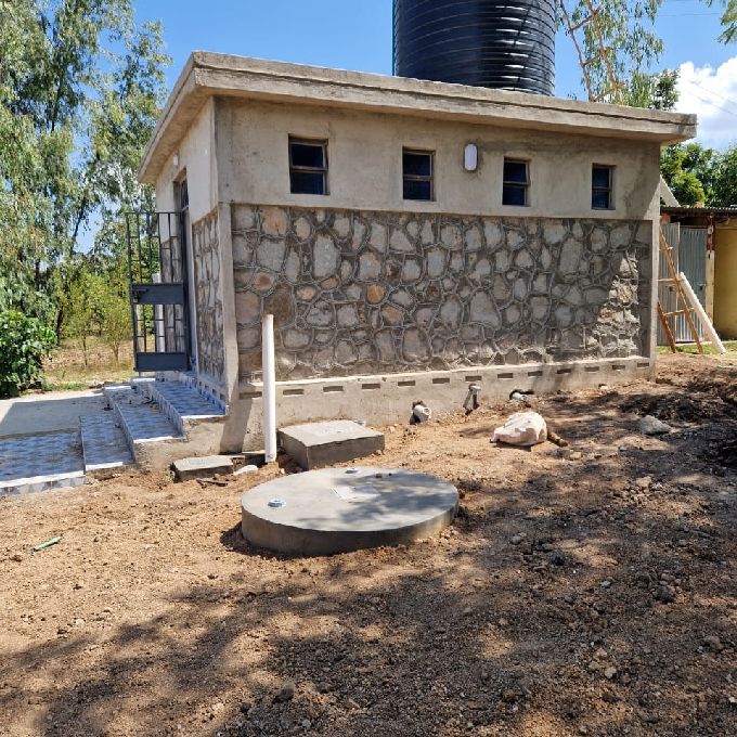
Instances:
[[[698,141],[714,148],[737,142],[737,56],[717,68],[681,65],[678,80],[680,113],[696,113]]]

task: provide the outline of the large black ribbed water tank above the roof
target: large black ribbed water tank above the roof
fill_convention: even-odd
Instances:
[[[555,0],[395,0],[395,74],[553,94]]]

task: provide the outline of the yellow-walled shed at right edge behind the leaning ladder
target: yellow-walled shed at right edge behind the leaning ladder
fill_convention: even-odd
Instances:
[[[723,339],[737,339],[737,207],[663,207],[670,245]],[[691,341],[676,325],[676,337]]]

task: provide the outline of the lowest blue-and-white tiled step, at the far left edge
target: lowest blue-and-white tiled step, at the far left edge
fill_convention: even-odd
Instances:
[[[66,489],[85,483],[78,432],[0,439],[0,496]]]

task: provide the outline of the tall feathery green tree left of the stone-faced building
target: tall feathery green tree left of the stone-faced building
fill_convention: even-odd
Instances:
[[[135,172],[168,60],[132,4],[0,0],[0,309],[57,332],[80,234],[153,196]]]

